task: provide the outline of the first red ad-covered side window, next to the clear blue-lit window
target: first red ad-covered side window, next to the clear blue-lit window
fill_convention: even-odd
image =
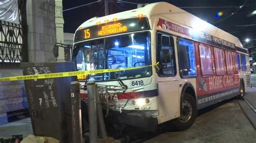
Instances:
[[[202,74],[213,75],[211,48],[206,45],[199,45],[199,50]]]

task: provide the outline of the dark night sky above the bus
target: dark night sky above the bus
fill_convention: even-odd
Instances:
[[[136,9],[137,4],[132,3],[163,2],[157,0],[126,0],[125,2],[119,2],[120,0],[109,1],[110,13]],[[63,0],[63,10],[91,2],[95,1]],[[208,23],[237,36],[242,43],[245,44],[245,47],[256,46],[256,15],[250,15],[250,13],[256,10],[256,0],[170,0],[164,2],[176,5],[181,9],[184,9],[185,11],[207,21]],[[242,5],[244,6],[239,8],[239,6]],[[224,14],[220,17],[216,17],[215,15],[220,11],[224,12]],[[63,16],[65,21],[64,32],[74,33],[76,28],[85,20],[95,16],[104,16],[104,0],[102,2],[64,11]],[[246,43],[246,38],[254,40]]]

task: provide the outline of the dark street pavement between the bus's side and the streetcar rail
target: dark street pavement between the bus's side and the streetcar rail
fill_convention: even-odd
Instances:
[[[221,104],[221,103],[220,103]],[[182,132],[164,132],[151,138],[153,142],[252,142],[256,131],[241,110],[238,100],[224,102],[200,115],[195,123]]]

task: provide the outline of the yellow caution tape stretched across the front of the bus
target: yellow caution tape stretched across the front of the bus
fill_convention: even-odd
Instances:
[[[19,80],[35,80],[35,79],[44,79],[44,78],[57,78],[57,77],[68,77],[68,76],[78,76],[78,75],[90,75],[90,74],[102,74],[102,73],[111,73],[116,71],[139,69],[145,67],[154,67],[157,66],[159,62],[155,65],[142,66],[142,67],[132,67],[132,68],[117,68],[117,69],[97,69],[97,70],[85,70],[85,71],[69,71],[63,73],[51,73],[51,74],[37,74],[37,75],[24,75],[24,76],[12,76],[0,78],[2,81],[19,81]]]

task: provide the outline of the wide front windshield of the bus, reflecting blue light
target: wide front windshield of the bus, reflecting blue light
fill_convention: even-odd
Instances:
[[[151,65],[150,33],[138,32],[100,38],[74,45],[73,61],[78,70],[116,69]],[[91,81],[107,81],[151,76],[152,68],[93,74]]]

